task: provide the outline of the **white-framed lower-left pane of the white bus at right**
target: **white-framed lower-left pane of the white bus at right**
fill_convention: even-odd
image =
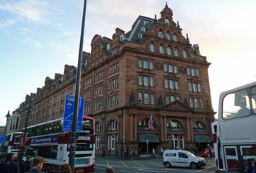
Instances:
[[[237,146],[224,146],[224,161],[229,170],[238,170]]]

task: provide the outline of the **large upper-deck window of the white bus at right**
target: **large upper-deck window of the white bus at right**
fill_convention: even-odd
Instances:
[[[227,94],[226,97],[224,97],[222,110],[224,120],[248,115],[250,115],[250,102],[245,89]]]

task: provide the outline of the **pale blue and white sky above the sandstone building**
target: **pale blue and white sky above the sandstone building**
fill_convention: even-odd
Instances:
[[[159,19],[165,3],[179,21],[182,35],[198,44],[208,68],[213,110],[219,94],[256,81],[255,0],[91,0],[87,1],[84,51],[94,35],[112,38],[115,28],[128,32],[139,15]],[[0,1],[0,125],[36,92],[45,78],[77,66],[82,0]]]

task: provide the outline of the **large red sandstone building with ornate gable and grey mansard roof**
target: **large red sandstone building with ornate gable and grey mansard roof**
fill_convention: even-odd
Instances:
[[[112,39],[95,35],[84,53],[80,96],[84,114],[96,119],[97,154],[127,148],[159,153],[160,148],[206,147],[214,112],[208,67],[198,45],[182,35],[166,6],[159,19],[139,16]],[[29,125],[63,117],[64,98],[74,94],[76,68],[47,77],[37,89]],[[153,130],[149,119],[153,117]],[[19,128],[25,125],[21,116]]]

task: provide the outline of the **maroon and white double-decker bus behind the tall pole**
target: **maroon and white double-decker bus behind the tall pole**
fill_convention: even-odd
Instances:
[[[27,128],[27,155],[43,156],[45,172],[59,172],[60,164],[69,164],[71,133],[62,131],[63,118]],[[77,133],[75,172],[94,172],[95,120],[83,116],[82,131]]]

